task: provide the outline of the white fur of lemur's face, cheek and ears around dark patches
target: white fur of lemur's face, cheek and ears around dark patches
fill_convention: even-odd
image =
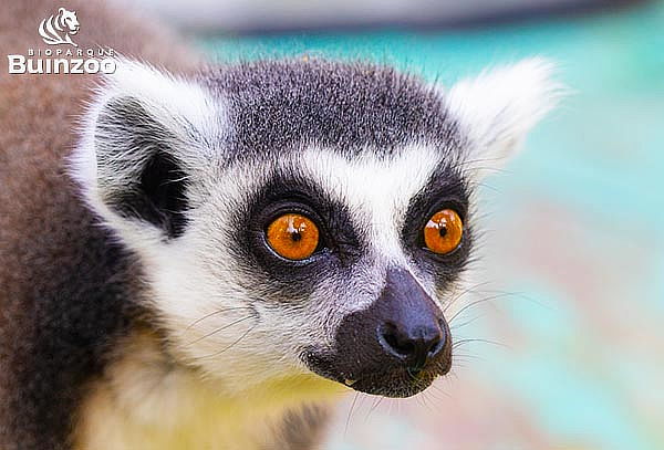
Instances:
[[[142,259],[169,350],[221,381],[228,391],[308,374],[299,353],[307,345],[330,345],[343,316],[376,299],[388,264],[411,266],[398,232],[408,201],[428,180],[442,151],[412,143],[394,157],[378,158],[369,151],[349,160],[331,149],[309,147],[297,159],[236,163],[221,169],[222,143],[232,133],[225,121],[224,101],[152,67],[126,61],[118,66],[89,111],[73,175],[106,226]],[[478,166],[486,167],[513,153],[551,106],[556,86],[548,80],[549,72],[540,60],[526,61],[461,81],[443,94],[467,137],[468,148],[454,157],[454,164],[481,160]],[[156,227],[121,217],[103,201],[104,186],[114,177],[117,184],[125,180],[123,172],[115,175],[113,165],[97,167],[94,130],[104,105],[120,96],[138,98],[176,136],[174,147],[191,181],[189,226],[177,239],[165,240]],[[143,163],[139,153],[117,158],[134,158],[136,167]],[[372,243],[356,275],[325,281],[310,299],[294,299],[297,307],[293,299],[283,299],[283,304],[257,301],[268,293],[257,292],[251,274],[238,269],[231,257],[236,242],[226,241],[220,232],[232,226],[230,212],[277,168],[297,168],[345,205]],[[430,280],[412,272],[434,295]],[[354,295],[334,295],[340,291]]]

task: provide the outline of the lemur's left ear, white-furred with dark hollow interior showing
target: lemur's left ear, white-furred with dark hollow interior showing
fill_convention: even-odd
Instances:
[[[199,85],[121,60],[86,115],[73,176],[121,234],[176,238],[218,117]]]

